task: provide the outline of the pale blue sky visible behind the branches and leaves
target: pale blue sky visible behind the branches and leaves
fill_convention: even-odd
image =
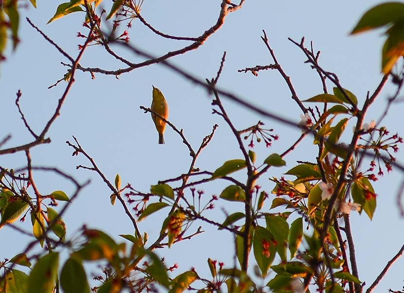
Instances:
[[[287,38],[299,41],[306,38],[306,45],[313,41],[314,49],[320,50],[320,64],[327,71],[336,73],[344,88],[356,94],[362,106],[367,91],[373,92],[382,78],[380,73],[381,48],[384,37],[382,31],[350,37],[349,32],[367,9],[379,1],[246,1],[242,9],[227,16],[223,27],[210,37],[202,47],[185,55],[170,59],[173,64],[204,79],[216,76],[221,56],[227,52],[226,62],[218,87],[234,92],[244,100],[262,109],[280,114],[288,119],[300,120],[300,109],[291,99],[291,94],[276,71],[259,72],[258,77],[251,73],[238,73],[237,70],[255,65],[273,63],[269,52],[261,41],[262,29],[267,32],[270,44],[279,63],[291,76],[294,88],[301,100],[322,93],[318,75],[308,64],[304,64],[304,54]],[[83,43],[77,38],[77,32],[86,35],[82,27],[83,13],[75,13],[46,22],[54,15],[60,2],[37,1],[37,9],[21,9],[19,35],[21,43],[15,53],[7,54],[8,60],[1,64],[0,98],[2,128],[0,139],[12,134],[5,147],[13,147],[32,140],[20,120],[15,106],[16,92],[21,90],[20,105],[32,128],[39,132],[53,114],[57,100],[66,84],[48,90],[56,80],[63,77],[66,67],[60,62],[66,58],[45,41],[25,20],[29,17],[45,34],[52,38],[66,52],[75,57],[77,44]],[[107,11],[111,3],[104,0],[101,6]],[[30,6],[30,5],[28,5]],[[152,1],[145,0],[142,7],[143,17],[156,29],[170,35],[197,37],[213,25],[218,18],[220,1]],[[173,41],[157,37],[140,21],[132,22],[129,37],[132,44],[159,56],[187,44],[185,41]],[[123,28],[121,28],[123,30]],[[117,49],[117,52],[122,52]],[[123,52],[131,62],[137,63],[141,57]],[[107,70],[126,68],[101,47],[88,48],[80,61],[84,67],[101,67]],[[117,241],[123,242],[118,234],[131,234],[130,220],[117,202],[110,204],[110,190],[95,174],[87,170],[76,170],[76,165],[89,165],[83,156],[72,157],[73,150],[65,144],[77,137],[82,147],[94,158],[100,169],[113,182],[116,173],[122,178],[122,184],[131,183],[138,190],[147,192],[151,184],[158,180],[174,178],[188,170],[190,157],[181,138],[170,128],[165,131],[164,146],[157,144],[157,132],[150,115],[139,109],[151,103],[152,84],[165,95],[169,104],[169,120],[178,128],[184,128],[184,135],[197,149],[204,136],[211,132],[214,124],[219,128],[209,147],[202,152],[196,167],[214,171],[223,162],[241,159],[242,154],[237,142],[224,121],[218,115],[212,115],[211,96],[183,77],[173,73],[161,64],[140,68],[114,76],[77,72],[75,83],[65,104],[48,136],[52,144],[33,148],[32,160],[36,166],[57,166],[71,174],[81,183],[91,179],[63,216],[67,224],[68,236],[77,232],[84,223],[89,227],[109,233]],[[329,90],[332,85],[329,83]],[[386,105],[387,98],[394,92],[391,83],[384,89],[377,101],[367,113],[365,120],[378,119]],[[223,104],[233,119],[236,128],[244,129],[262,120],[268,128],[274,128],[274,134],[280,139],[271,148],[257,144],[257,162],[263,161],[269,154],[282,153],[297,139],[300,130],[283,126],[263,118],[251,110],[222,98]],[[313,106],[313,105],[310,105]],[[383,121],[391,133],[404,135],[403,104],[395,104],[389,116]],[[351,124],[347,127],[348,139]],[[349,133],[348,133],[349,132]],[[246,145],[248,141],[246,141]],[[268,177],[280,177],[283,172],[296,165],[296,161],[314,161],[316,147],[308,137],[285,160],[287,167],[271,169],[258,182],[267,192],[274,184]],[[403,152],[397,154],[398,162],[403,163]],[[1,156],[2,166],[19,168],[25,164],[23,152]],[[367,164],[367,163],[366,163]],[[364,165],[364,169],[367,165]],[[385,172],[386,173],[386,172]],[[242,172],[236,174],[243,180]],[[55,174],[35,172],[37,186],[42,194],[54,190],[64,190],[69,196],[73,186]],[[288,179],[293,180],[294,177]],[[366,281],[367,288],[383,270],[387,261],[393,257],[404,243],[403,223],[396,206],[396,192],[403,174],[394,170],[374,183],[378,194],[376,213],[372,221],[364,213],[353,214],[351,226],[358,260],[360,280]],[[175,186],[175,185],[174,185]],[[219,195],[227,183],[214,183],[200,186],[205,191],[206,201],[212,194]],[[268,209],[273,196],[267,202]],[[60,207],[60,206],[59,206]],[[240,203],[216,202],[216,209],[205,216],[217,221],[224,219],[224,208],[231,213],[243,209]],[[160,231],[160,223],[166,212],[156,213],[140,223],[141,231],[147,231],[150,244]],[[158,224],[156,224],[158,223]],[[196,267],[202,276],[208,277],[206,260],[208,257],[232,265],[233,240],[229,233],[218,232],[206,224],[197,222],[190,232],[199,225],[207,232],[192,240],[173,245],[170,250],[157,251],[166,257],[167,266],[177,262],[177,274]],[[20,225],[30,230],[26,220]],[[11,258],[21,252],[27,238],[9,227],[1,230],[0,259]],[[253,255],[251,255],[253,257]],[[276,262],[274,263],[276,264]],[[404,260],[399,259],[387,273],[374,292],[387,292],[389,288],[398,290],[404,285]],[[266,282],[274,275],[271,275]],[[92,286],[94,283],[92,283]]]

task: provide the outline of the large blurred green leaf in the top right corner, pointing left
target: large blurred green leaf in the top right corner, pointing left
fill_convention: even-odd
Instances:
[[[404,4],[402,2],[388,2],[369,9],[352,30],[351,35],[375,29],[404,18]]]

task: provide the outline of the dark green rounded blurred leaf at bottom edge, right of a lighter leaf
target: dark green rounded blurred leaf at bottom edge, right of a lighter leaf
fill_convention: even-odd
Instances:
[[[60,285],[65,293],[90,293],[86,271],[81,261],[74,257],[66,260],[60,274]]]

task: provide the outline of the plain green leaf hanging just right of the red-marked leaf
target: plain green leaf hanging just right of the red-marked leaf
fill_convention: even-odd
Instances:
[[[274,236],[277,244],[276,250],[282,259],[287,261],[286,247],[288,246],[289,225],[281,216],[265,215],[267,229]]]

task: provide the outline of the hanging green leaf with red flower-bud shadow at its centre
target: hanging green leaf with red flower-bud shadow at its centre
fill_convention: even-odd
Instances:
[[[254,230],[254,257],[262,272],[262,277],[265,277],[275,259],[276,247],[273,241],[274,237],[264,227],[257,226]]]

